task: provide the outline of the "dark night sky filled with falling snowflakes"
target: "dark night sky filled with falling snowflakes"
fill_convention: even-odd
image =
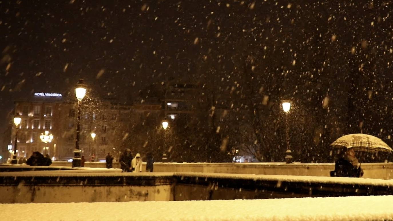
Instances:
[[[349,77],[358,79],[360,95],[379,92],[384,102],[392,95],[392,7],[330,0],[1,1],[0,119],[13,99],[65,93],[81,77],[101,96],[130,100],[169,77],[241,82],[248,55],[272,91],[305,100],[318,94],[320,103],[327,94],[346,97]],[[221,92],[233,82],[222,83]]]

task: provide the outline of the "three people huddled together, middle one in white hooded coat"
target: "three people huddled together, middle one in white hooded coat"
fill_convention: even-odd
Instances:
[[[146,172],[153,172],[154,158],[151,153],[147,154],[146,161]],[[142,159],[140,153],[132,157],[130,149],[124,150],[120,156],[119,163],[123,172],[142,172]]]

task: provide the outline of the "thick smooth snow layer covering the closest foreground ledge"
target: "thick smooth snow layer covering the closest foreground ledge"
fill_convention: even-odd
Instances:
[[[0,204],[0,218],[7,221],[24,221],[26,216],[31,221],[371,221],[393,220],[392,205],[392,195],[127,203],[29,203]]]

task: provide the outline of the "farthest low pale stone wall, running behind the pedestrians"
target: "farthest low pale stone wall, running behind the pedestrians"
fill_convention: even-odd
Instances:
[[[68,162],[53,162],[53,166],[71,166]],[[86,162],[85,167],[102,167],[105,163]],[[113,164],[119,168],[119,163]],[[146,163],[143,163],[145,171]],[[363,178],[393,179],[393,163],[363,163]],[[330,176],[333,163],[154,163],[154,172],[204,172],[227,174],[265,174],[265,175],[300,175]]]

